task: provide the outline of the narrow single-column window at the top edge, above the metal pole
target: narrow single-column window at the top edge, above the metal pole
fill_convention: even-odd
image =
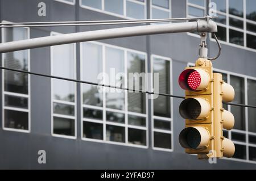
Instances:
[[[171,0],[151,0],[150,18],[171,18]]]

